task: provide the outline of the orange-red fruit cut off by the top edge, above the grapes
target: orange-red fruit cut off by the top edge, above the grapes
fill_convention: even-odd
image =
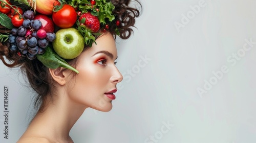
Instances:
[[[53,6],[60,5],[57,0],[36,0],[35,3],[32,0],[28,0],[28,2],[37,12],[45,15],[51,15]]]

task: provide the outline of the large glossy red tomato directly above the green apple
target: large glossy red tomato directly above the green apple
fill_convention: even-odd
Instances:
[[[64,5],[59,11],[53,12],[52,20],[60,28],[70,28],[76,22],[76,11],[70,5]]]

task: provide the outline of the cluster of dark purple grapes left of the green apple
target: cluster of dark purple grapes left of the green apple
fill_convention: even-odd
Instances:
[[[44,54],[45,48],[49,42],[55,40],[55,33],[47,33],[44,29],[40,29],[41,21],[34,19],[35,13],[27,10],[23,14],[25,20],[23,25],[19,28],[13,28],[8,37],[11,43],[9,46],[10,51],[19,51],[26,55],[28,59],[33,60],[36,54]]]

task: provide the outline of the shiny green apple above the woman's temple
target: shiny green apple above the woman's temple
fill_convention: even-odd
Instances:
[[[84,38],[75,28],[60,29],[52,43],[54,51],[64,59],[74,59],[82,53]]]

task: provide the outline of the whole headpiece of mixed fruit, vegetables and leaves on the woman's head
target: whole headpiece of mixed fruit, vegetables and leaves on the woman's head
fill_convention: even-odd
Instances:
[[[107,0],[0,0],[0,5],[0,42],[9,42],[11,52],[37,58],[48,68],[78,73],[64,59],[79,56],[110,27],[119,35],[121,21]],[[3,29],[9,32],[1,34]]]

